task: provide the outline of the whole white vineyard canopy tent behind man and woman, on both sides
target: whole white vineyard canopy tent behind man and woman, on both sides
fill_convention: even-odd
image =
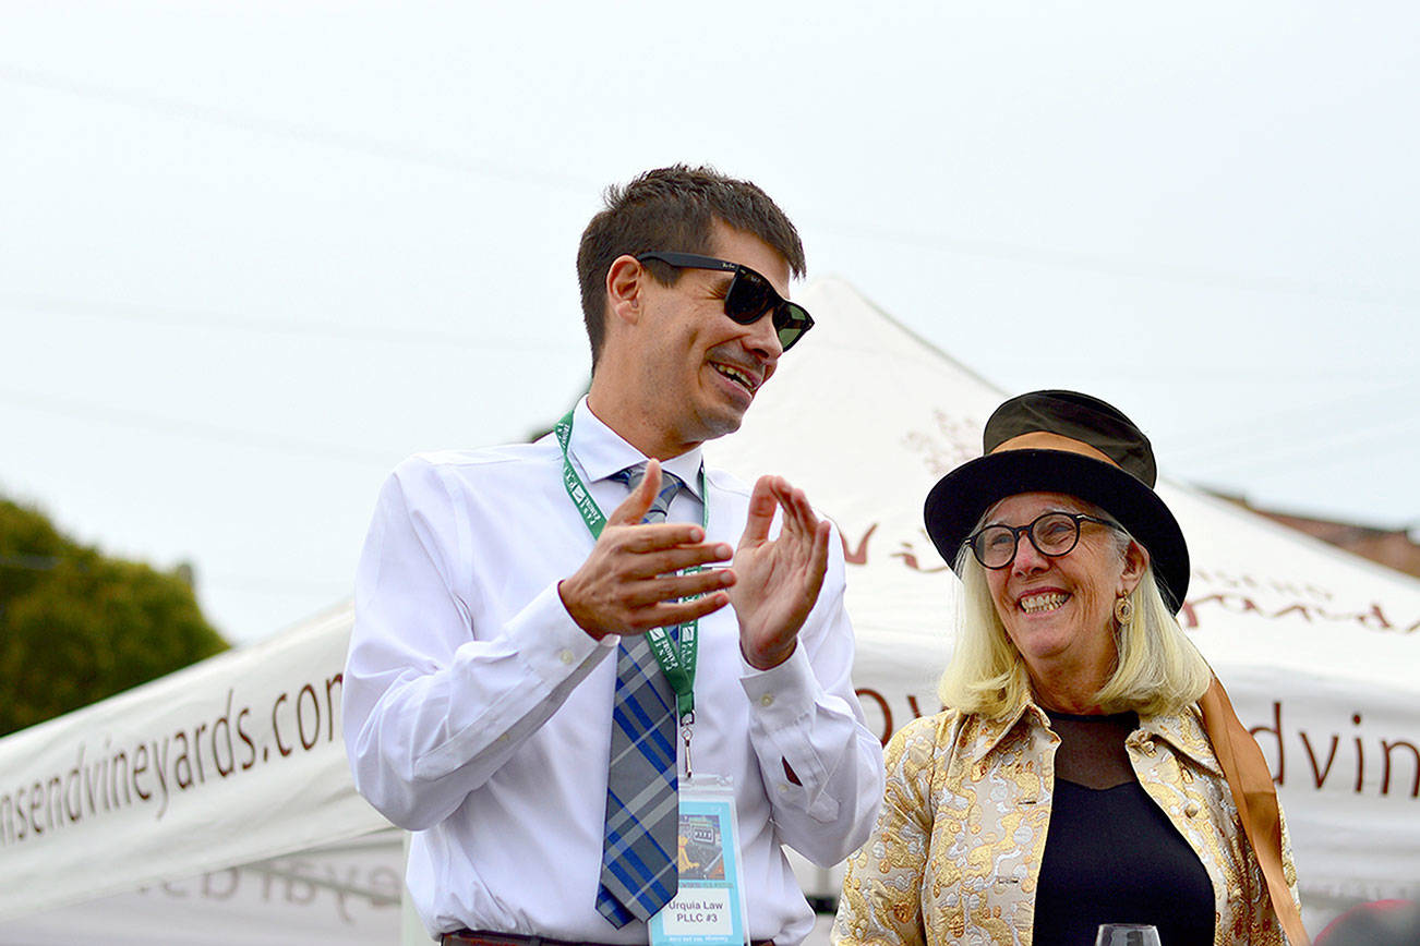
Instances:
[[[940,706],[953,579],[922,529],[922,499],[978,452],[1003,391],[843,282],[804,298],[818,328],[744,430],[710,452],[747,479],[787,475],[835,518],[855,682],[886,736]],[[1278,776],[1311,915],[1338,898],[1420,896],[1420,583],[1177,484],[1160,492],[1193,553],[1183,623]],[[43,942],[60,908],[72,930],[75,903],[112,896],[85,909],[122,912],[158,899],[129,891],[206,891],[220,878],[183,878],[253,862],[260,879],[246,889],[266,891],[253,909],[270,909],[283,878],[307,885],[295,899],[345,909],[345,933],[354,899],[388,905],[388,862],[349,867],[348,851],[329,850],[388,827],[355,796],[339,740],[349,625],[342,607],[0,740],[0,943]],[[386,861],[389,838],[373,845]],[[389,942],[398,922],[366,906],[379,930],[369,942]],[[220,922],[212,942],[271,942],[261,923],[243,936],[239,920]]]

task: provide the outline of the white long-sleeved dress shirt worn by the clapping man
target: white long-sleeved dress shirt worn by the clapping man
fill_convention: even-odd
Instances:
[[[608,477],[645,460],[585,399],[569,452],[606,513],[626,498]],[[734,546],[750,491],[707,469],[709,496],[696,495],[700,465],[700,450],[663,464],[689,486],[669,519],[700,522],[709,499],[709,539]],[[432,935],[646,942],[645,923],[618,930],[595,906],[618,638],[594,641],[557,593],[591,549],[552,435],[412,457],[381,492],[355,581],[345,745],[361,794],[415,831],[408,885]],[[692,759],[734,777],[750,933],[777,943],[814,922],[780,845],[835,864],[882,798],[882,749],[849,682],[836,535],[829,549],[780,667],[744,662],[731,607],[700,618]]]

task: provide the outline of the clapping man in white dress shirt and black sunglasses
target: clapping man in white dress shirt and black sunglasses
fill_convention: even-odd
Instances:
[[[829,865],[862,844],[882,753],[829,523],[782,478],[704,468],[700,445],[812,325],[787,302],[802,245],[754,184],[677,166],[608,191],[578,272],[594,367],[565,448],[422,454],[381,492],[344,682],[355,784],[415,833],[432,936],[645,943],[601,903],[618,645],[697,621],[694,772],[734,780],[750,937],[797,943],[814,916],[781,845]],[[663,471],[683,485],[643,523]],[[577,488],[608,511],[595,540]]]

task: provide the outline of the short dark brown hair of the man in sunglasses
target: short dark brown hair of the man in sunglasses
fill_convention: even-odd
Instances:
[[[709,252],[716,220],[750,233],[784,257],[790,272],[802,277],[804,244],[790,218],[767,193],[747,180],[726,177],[714,167],[674,165],[648,170],[626,186],[611,186],[606,208],[582,231],[577,251],[577,281],[582,291],[582,318],[592,345],[592,370],[606,333],[606,271],[622,254],[652,250]],[[679,269],[650,261],[646,268],[670,285]]]

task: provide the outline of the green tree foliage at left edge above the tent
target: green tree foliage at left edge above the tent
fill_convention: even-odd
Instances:
[[[227,647],[179,570],[111,559],[0,499],[0,736]]]

